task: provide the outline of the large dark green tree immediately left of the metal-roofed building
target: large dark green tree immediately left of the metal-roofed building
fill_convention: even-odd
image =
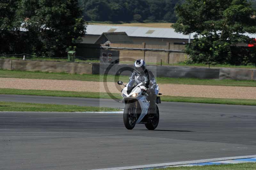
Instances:
[[[66,56],[66,51],[81,42],[85,21],[77,0],[21,0],[20,23],[27,29],[30,52],[44,56]]]

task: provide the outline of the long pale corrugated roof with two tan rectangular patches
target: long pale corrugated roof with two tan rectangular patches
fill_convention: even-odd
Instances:
[[[188,39],[188,35],[176,33],[172,28],[152,28],[152,27],[127,27],[127,26],[109,26],[109,25],[88,25],[86,28],[87,35],[101,35],[108,32],[125,32],[131,37],[151,37],[151,38],[174,38]],[[151,34],[147,34],[150,31]],[[193,38],[191,35],[191,39]]]

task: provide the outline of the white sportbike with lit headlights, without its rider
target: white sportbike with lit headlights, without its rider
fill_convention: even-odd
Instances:
[[[122,81],[118,81],[117,84],[124,85]],[[127,129],[133,129],[136,123],[145,124],[148,130],[154,130],[159,122],[159,110],[156,104],[161,103],[160,97],[156,97],[156,108],[149,108],[150,102],[147,100],[148,94],[145,84],[148,82],[140,82],[137,86],[133,86],[132,89],[128,89],[124,86],[121,91],[124,103],[124,126]],[[155,89],[155,93],[158,94],[158,85]],[[162,95],[159,93],[158,95]]]

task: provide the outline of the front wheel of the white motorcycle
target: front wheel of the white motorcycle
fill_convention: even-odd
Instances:
[[[137,113],[134,108],[134,103],[125,104],[124,107],[124,126],[129,130],[135,127],[137,121]]]

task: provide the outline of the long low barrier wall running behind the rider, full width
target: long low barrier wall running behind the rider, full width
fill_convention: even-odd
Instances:
[[[107,68],[110,68],[107,70]],[[232,69],[232,68],[199,68],[180,66],[147,66],[157,77],[170,78],[198,78],[198,79],[233,79],[233,80],[256,80],[256,70]],[[33,61],[33,60],[10,60],[0,59],[0,69],[41,71],[56,73],[76,74],[121,74],[130,75],[133,65],[116,64],[109,66],[100,63],[70,63],[54,61]],[[107,70],[107,71],[106,71]],[[128,71],[127,71],[128,70]]]

